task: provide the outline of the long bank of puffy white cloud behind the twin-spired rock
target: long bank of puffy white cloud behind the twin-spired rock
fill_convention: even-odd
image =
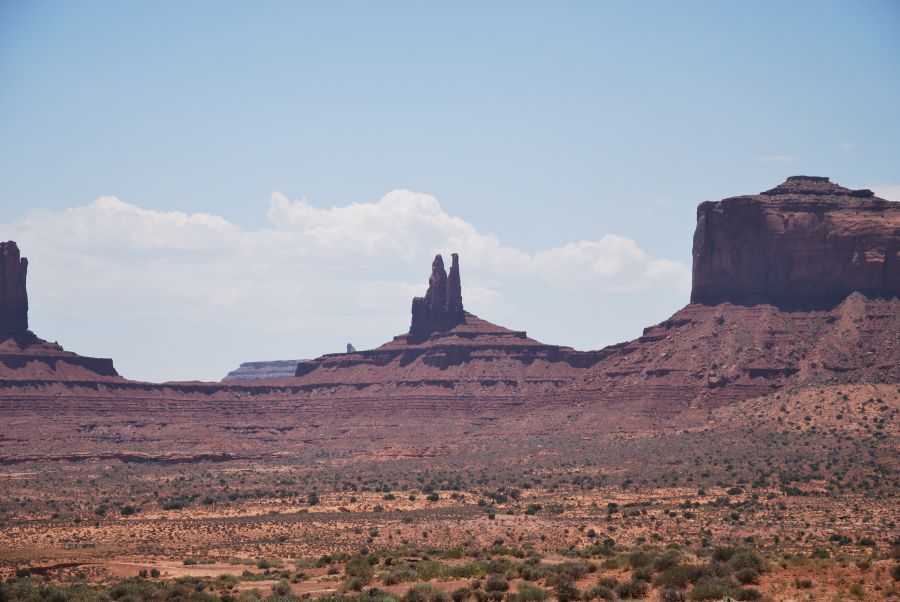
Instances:
[[[332,208],[275,193],[267,216],[267,227],[247,230],[217,215],[102,197],[61,212],[31,211],[0,224],[0,238],[17,240],[31,261],[32,307],[76,334],[83,323],[85,340],[92,325],[95,333],[97,324],[145,328],[135,337],[146,340],[163,324],[194,340],[224,329],[310,342],[339,333],[360,347],[377,344],[386,332],[405,330],[410,298],[424,292],[438,252],[460,254],[466,307],[489,316],[515,313],[522,290],[558,304],[566,291],[583,300],[650,289],[683,294],[690,286],[686,266],[652,257],[631,239],[607,234],[527,252],[447,214],[433,196],[407,190]],[[513,298],[512,290],[520,293]],[[208,352],[221,352],[222,344],[209,339]],[[244,353],[242,360],[277,355],[234,353]],[[138,364],[138,357],[129,361]]]

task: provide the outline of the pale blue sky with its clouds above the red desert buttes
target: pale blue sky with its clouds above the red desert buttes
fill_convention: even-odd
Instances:
[[[290,244],[313,236],[321,252],[334,241],[310,234],[315,224],[339,222],[331,232],[365,237],[354,220],[379,221],[390,206],[380,200],[406,189],[433,196],[449,216],[432,224],[433,239],[385,225],[387,238],[415,234],[416,242],[392,251],[371,243],[346,263],[303,264],[303,277],[312,272],[318,284],[298,277],[302,286],[292,293],[318,299],[315,286],[331,288],[332,279],[356,274],[348,266],[364,265],[372,282],[393,282],[400,299],[401,284],[424,282],[432,247],[455,250],[444,246],[459,243],[451,224],[458,219],[523,254],[501,253],[510,261],[534,264],[511,279],[502,265],[471,257],[482,238],[459,243],[470,254],[464,278],[468,261],[468,282],[484,304],[479,311],[470,302],[471,309],[548,342],[598,347],[637,336],[684,304],[687,292],[675,284],[683,274],[673,268],[638,284],[620,266],[617,277],[610,257],[636,255],[607,239],[582,248],[595,268],[597,257],[606,262],[592,272],[596,280],[563,282],[552,274],[584,259],[573,263],[567,245],[629,240],[645,255],[640,265],[658,274],[654,261],[689,266],[700,201],[755,193],[800,173],[895,194],[897,107],[898,2],[7,0],[0,3],[0,233],[31,246],[23,251],[32,259],[38,334],[113,356],[128,376],[216,378],[238,359],[318,355],[344,339],[371,346],[404,330],[406,301],[377,316],[348,303],[340,307],[344,322],[331,316],[337,333],[321,327],[327,319],[313,328],[297,316],[263,329],[248,316],[290,305],[248,304],[243,295],[227,301],[227,266],[207,262],[234,253],[247,262],[235,269],[265,264],[283,274],[262,247],[252,256],[248,240],[279,239],[289,221],[303,233]],[[296,215],[273,222],[276,192],[303,214],[302,227]],[[100,197],[136,212],[97,206]],[[404,197],[402,215],[421,205],[417,198]],[[310,213],[353,203],[372,212]],[[84,211],[66,212],[74,208]],[[130,217],[120,222],[110,212]],[[218,216],[225,230],[242,234],[218,228],[222,237],[207,241],[204,257],[179,255],[183,241],[147,228],[170,227],[173,212]],[[53,227],[44,229],[48,221]],[[98,240],[46,240],[73,223],[97,228]],[[104,227],[120,236],[102,234]],[[548,267],[550,256],[561,263]],[[212,301],[225,298],[220,313],[179,314],[189,301],[210,303],[202,291],[173,292],[148,307],[113,297],[104,307],[110,294],[85,284],[90,274],[63,277],[93,266],[98,277],[123,278],[133,289],[122,275],[129,265],[144,282],[153,268],[163,278],[161,265],[186,270],[185,282],[218,290]],[[197,280],[217,269],[225,280]],[[267,289],[255,280],[240,286]],[[110,323],[121,334],[97,334]],[[223,338],[223,325],[240,332],[240,345]],[[168,358],[160,333],[197,344]],[[136,339],[150,341],[145,351],[134,349]]]

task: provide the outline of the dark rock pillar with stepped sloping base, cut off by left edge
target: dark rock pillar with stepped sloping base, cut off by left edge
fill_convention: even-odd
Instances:
[[[0,242],[0,379],[117,378],[111,359],[85,357],[28,330],[28,260],[13,241]]]

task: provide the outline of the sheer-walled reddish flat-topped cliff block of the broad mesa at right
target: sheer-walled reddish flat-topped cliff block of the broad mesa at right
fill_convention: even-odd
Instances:
[[[701,203],[691,302],[836,306],[900,296],[900,203],[793,176],[758,195]]]

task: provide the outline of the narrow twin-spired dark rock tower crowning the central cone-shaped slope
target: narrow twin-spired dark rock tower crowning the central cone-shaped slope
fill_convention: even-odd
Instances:
[[[412,303],[410,342],[421,342],[434,332],[447,332],[466,320],[462,304],[462,285],[459,279],[459,255],[453,253],[450,275],[444,269],[444,258],[435,256],[431,263],[431,277],[424,297]]]

